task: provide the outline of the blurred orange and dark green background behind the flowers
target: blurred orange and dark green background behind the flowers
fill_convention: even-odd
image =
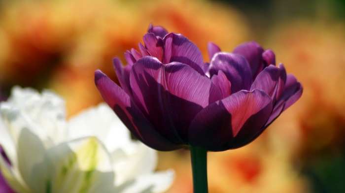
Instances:
[[[138,49],[150,23],[182,33],[208,60],[256,40],[304,86],[299,101],[257,140],[208,153],[210,193],[345,192],[345,0],[0,0],[0,85],[52,89],[69,117],[102,101],[101,69]],[[189,151],[160,152],[169,193],[192,193]]]

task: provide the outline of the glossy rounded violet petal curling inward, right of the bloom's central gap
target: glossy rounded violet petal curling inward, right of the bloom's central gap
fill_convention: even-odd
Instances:
[[[231,93],[249,90],[251,85],[251,71],[247,61],[237,54],[219,52],[213,57],[209,73],[210,77],[221,70],[231,82]]]

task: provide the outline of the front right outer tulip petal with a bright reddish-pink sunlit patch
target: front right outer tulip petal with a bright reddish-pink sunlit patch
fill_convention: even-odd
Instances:
[[[272,111],[271,97],[265,92],[241,91],[202,110],[188,131],[190,145],[209,151],[239,148],[252,141]]]

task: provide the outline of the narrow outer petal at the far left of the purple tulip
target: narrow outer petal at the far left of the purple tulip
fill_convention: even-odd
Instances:
[[[95,84],[104,101],[144,144],[161,151],[181,148],[163,137],[143,116],[131,98],[100,70],[95,72]]]

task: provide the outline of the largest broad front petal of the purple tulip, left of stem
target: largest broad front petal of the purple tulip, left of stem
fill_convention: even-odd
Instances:
[[[211,97],[220,97],[211,80],[190,66],[163,65],[153,57],[137,61],[130,81],[138,107],[160,133],[177,144],[187,144],[190,121]]]

